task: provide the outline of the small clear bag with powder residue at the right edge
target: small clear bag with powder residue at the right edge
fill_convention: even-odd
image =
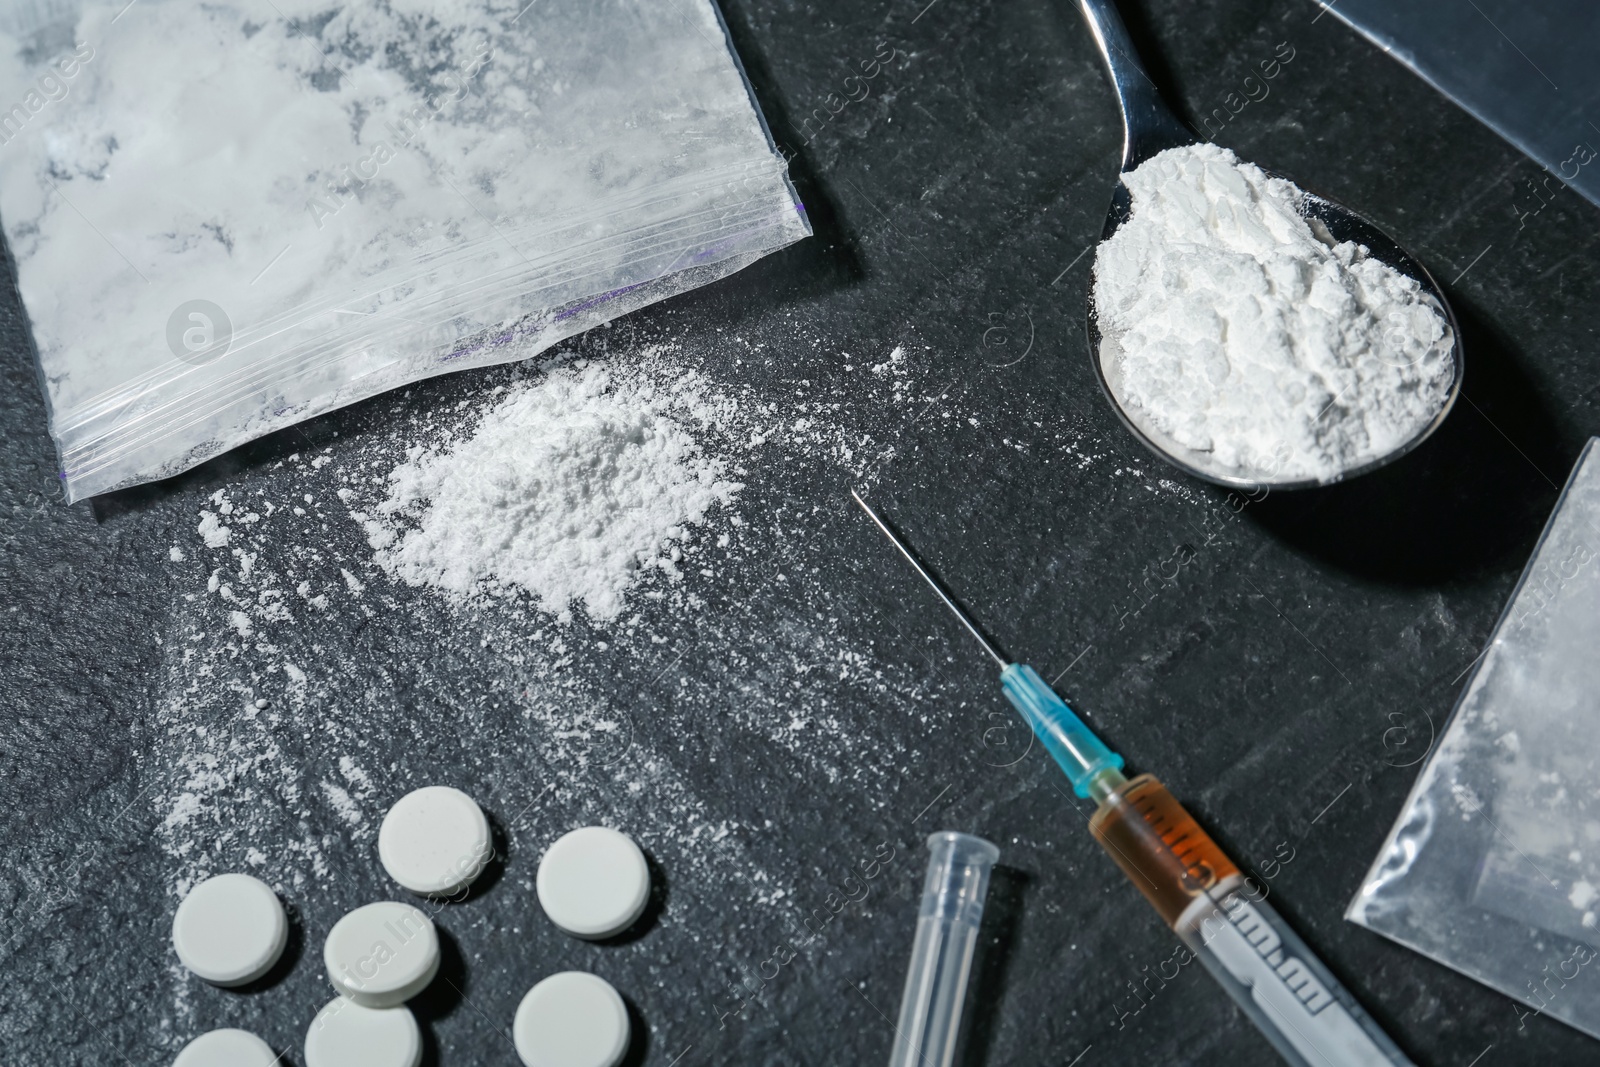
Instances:
[[[1600,438],[1346,918],[1600,1038]]]

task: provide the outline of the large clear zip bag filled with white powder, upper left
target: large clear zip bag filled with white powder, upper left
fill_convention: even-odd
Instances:
[[[810,234],[710,0],[10,3],[0,224],[67,499]]]

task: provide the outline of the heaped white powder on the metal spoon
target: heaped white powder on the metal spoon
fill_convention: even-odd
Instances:
[[[1101,365],[1157,443],[1216,474],[1333,482],[1438,414],[1445,315],[1366,248],[1318,238],[1298,186],[1214,144],[1123,181],[1133,213],[1094,259]]]

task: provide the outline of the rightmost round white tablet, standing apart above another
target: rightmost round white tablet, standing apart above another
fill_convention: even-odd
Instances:
[[[589,825],[563,835],[539,861],[539,904],[578,937],[610,937],[634,925],[650,899],[650,867],[626,833]]]

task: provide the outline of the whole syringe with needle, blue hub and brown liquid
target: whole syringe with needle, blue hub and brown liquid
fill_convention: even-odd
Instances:
[[[1032,667],[1002,656],[888,523],[851,496],[1000,664],[1006,699],[1072,790],[1099,805],[1090,817],[1094,840],[1283,1059],[1296,1067],[1410,1064],[1166,787],[1150,774],[1125,777],[1122,757]]]

